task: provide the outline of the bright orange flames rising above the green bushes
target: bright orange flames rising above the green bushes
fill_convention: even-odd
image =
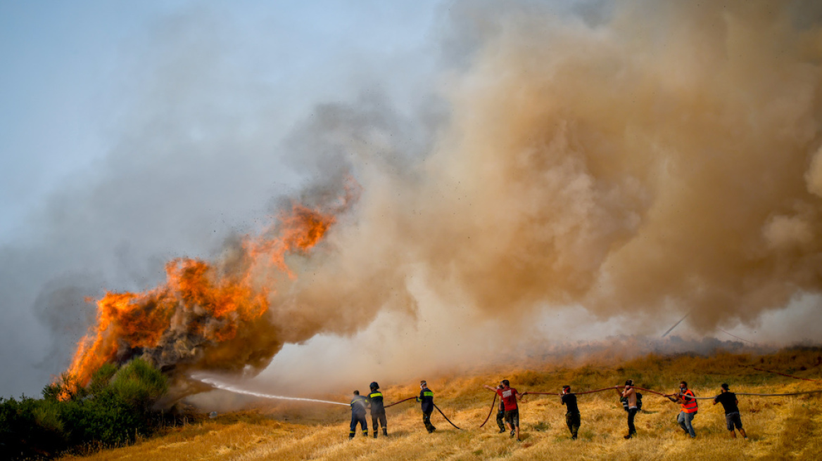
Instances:
[[[286,256],[312,249],[334,222],[332,213],[295,203],[264,235],[243,239],[238,264],[177,258],[166,263],[166,281],[153,290],[106,293],[96,301],[97,325],[80,340],[67,370],[69,386],[87,385],[104,363],[138,355],[158,367],[242,369],[245,363],[235,363],[221,345],[253,329],[270,307],[271,274],[293,279]]]

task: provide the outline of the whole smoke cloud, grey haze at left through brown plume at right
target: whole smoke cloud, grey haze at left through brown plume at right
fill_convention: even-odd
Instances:
[[[561,340],[550,314],[569,308],[588,317],[568,328],[599,335],[661,334],[686,312],[709,335],[818,302],[822,8],[570,5],[447,3],[436,77],[408,52],[283,112],[293,98],[232,75],[230,28],[206,40],[209,16],[165,23],[109,157],[0,249],[0,392],[44,383],[29,364],[51,347],[45,324],[85,321],[81,293],[149,288],[166,259],[253,230],[272,197],[310,201],[349,173],[359,203],[273,315],[315,352],[358,338],[347,350],[367,372]],[[819,326],[818,310],[799,312]],[[284,354],[274,367],[299,358]]]

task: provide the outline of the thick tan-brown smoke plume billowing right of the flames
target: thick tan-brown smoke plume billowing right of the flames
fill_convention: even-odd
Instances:
[[[820,292],[819,7],[459,7],[483,33],[446,126],[421,162],[361,166],[357,227],[302,303],[323,312],[352,260],[502,323],[580,304],[711,331]]]

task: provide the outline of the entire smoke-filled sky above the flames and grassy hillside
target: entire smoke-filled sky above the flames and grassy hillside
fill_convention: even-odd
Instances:
[[[804,0],[0,0],[0,395],[67,368],[90,300],[348,176],[271,295],[270,383],[686,316],[818,342],[819,43]]]

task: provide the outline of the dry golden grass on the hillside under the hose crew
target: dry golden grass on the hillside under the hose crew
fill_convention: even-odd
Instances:
[[[681,379],[699,396],[715,395],[728,382],[737,392],[795,392],[822,383],[793,380],[745,365],[778,369],[802,377],[820,378],[819,349],[787,350],[765,357],[720,354],[711,358],[649,356],[618,367],[542,367],[506,375],[523,390],[554,392],[563,384],[584,390],[621,384],[632,377],[641,387],[672,391]],[[694,419],[697,438],[690,440],[676,423],[678,405],[645,395],[644,410],[636,417],[639,436],[623,440],[626,414],[613,391],[580,395],[580,440],[569,440],[564,407],[554,396],[528,396],[520,406],[523,441],[497,434],[488,413],[492,394],[481,388],[502,377],[429,379],[436,403],[465,431],[450,427],[438,413],[436,433],[423,429],[418,405],[412,402],[388,409],[390,436],[377,440],[358,435],[348,440],[349,412],[343,407],[278,406],[266,411],[220,415],[186,427],[169,429],[150,440],[85,458],[64,459],[822,459],[822,405],[819,395],[792,398],[740,397],[742,422],[750,440],[732,440],[724,426],[721,405],[700,400]],[[416,393],[415,386],[386,388],[387,399]],[[287,421],[285,420],[287,418]],[[493,418],[493,417],[492,417]],[[369,418],[370,423],[370,418]]]

